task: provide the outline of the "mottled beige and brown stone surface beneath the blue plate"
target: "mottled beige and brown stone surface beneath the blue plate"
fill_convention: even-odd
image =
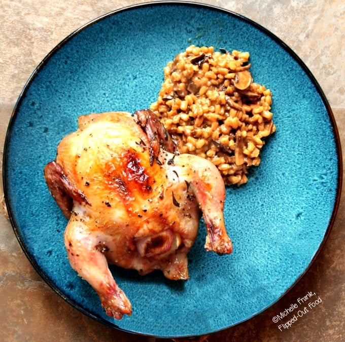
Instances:
[[[2,0],[0,4],[0,146],[15,102],[40,61],[90,20],[139,0]],[[305,62],[329,100],[345,146],[345,4],[338,0],[204,0],[244,15],[280,37]],[[340,4],[342,3],[342,5]],[[2,158],[1,158],[2,159]],[[3,189],[1,188],[1,194]],[[323,249],[302,279],[271,308],[212,334],[214,341],[340,341],[345,339],[345,196]],[[0,338],[3,341],[152,341],[88,318],[61,299],[22,252],[0,215]],[[272,318],[309,291],[322,302],[280,331]],[[157,338],[157,341],[160,340]]]

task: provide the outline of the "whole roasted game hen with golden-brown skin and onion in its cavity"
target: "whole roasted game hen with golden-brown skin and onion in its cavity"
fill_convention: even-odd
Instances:
[[[188,279],[187,253],[203,214],[205,249],[231,253],[223,218],[225,187],[209,161],[179,155],[150,110],[81,116],[44,176],[69,220],[64,243],[72,268],[121,319],[131,303],[108,262],[145,275]]]

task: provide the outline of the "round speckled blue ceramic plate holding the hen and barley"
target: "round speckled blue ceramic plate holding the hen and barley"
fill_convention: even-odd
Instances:
[[[190,44],[248,51],[254,80],[273,93],[277,132],[246,185],[228,187],[231,255],[189,253],[190,280],[142,277],[113,267],[133,305],[108,317],[77,276],[63,244],[66,225],[43,168],[60,139],[91,112],[135,111],[157,98],[163,67]],[[308,269],[333,223],[341,187],[338,133],[327,100],[302,61],[256,23],[210,6],[161,2],[125,8],[68,36],[34,70],[5,143],[4,187],[15,234],[43,279],[68,303],[110,326],[172,337],[248,320],[281,298]],[[188,324],[186,324],[188,322]]]

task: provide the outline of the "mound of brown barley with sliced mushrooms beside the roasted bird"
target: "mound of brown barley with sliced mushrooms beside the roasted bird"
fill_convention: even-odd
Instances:
[[[228,185],[247,182],[263,139],[275,131],[272,94],[253,82],[248,60],[248,52],[191,45],[166,65],[151,104],[180,153],[210,160]]]

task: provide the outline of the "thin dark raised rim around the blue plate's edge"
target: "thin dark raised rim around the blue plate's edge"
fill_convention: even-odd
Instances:
[[[312,84],[315,86],[315,89],[317,91],[317,93],[319,94],[329,117],[330,120],[330,124],[331,124],[331,129],[332,129],[332,134],[334,137],[334,143],[335,143],[335,154],[337,156],[337,184],[336,184],[336,192],[335,192],[335,198],[334,198],[334,205],[333,205],[333,211],[332,214],[330,216],[329,219],[329,223],[327,226],[327,229],[325,231],[325,235],[323,237],[323,240],[321,241],[317,251],[315,252],[312,260],[310,261],[310,263],[307,265],[307,267],[305,268],[305,270],[302,272],[302,274],[299,275],[299,277],[295,280],[295,282],[279,297],[277,298],[275,301],[273,301],[272,303],[270,303],[270,305],[266,308],[264,308],[263,310],[256,312],[255,314],[253,314],[252,316],[239,321],[235,324],[229,325],[225,328],[222,329],[218,329],[218,330],[213,330],[210,331],[209,333],[215,333],[218,331],[222,331],[225,329],[229,329],[231,327],[234,327],[236,325],[239,324],[243,324],[244,322],[252,319],[253,317],[262,314],[263,312],[265,312],[266,310],[268,310],[269,308],[271,308],[275,303],[277,303],[278,301],[280,301],[283,297],[285,297],[287,295],[288,292],[291,291],[292,288],[294,288],[296,286],[296,284],[302,279],[302,277],[307,273],[307,271],[310,269],[310,267],[312,266],[312,264],[314,263],[314,261],[316,260],[316,258],[318,257],[318,255],[320,254],[321,250],[323,249],[326,241],[328,240],[329,234],[332,230],[332,227],[334,225],[337,213],[338,213],[338,208],[339,208],[339,203],[340,203],[340,197],[341,197],[341,189],[342,189],[342,173],[343,173],[343,163],[342,163],[342,151],[341,151],[341,144],[340,144],[340,135],[339,135],[339,131],[336,125],[336,121],[334,118],[334,114],[332,111],[332,108],[327,100],[327,97],[324,93],[324,91],[322,90],[319,82],[316,80],[316,78],[314,77],[314,74],[309,70],[309,68],[306,66],[306,64],[302,61],[302,59],[282,40],[280,39],[277,35],[275,35],[274,33],[272,33],[270,30],[268,30],[267,28],[265,28],[264,26],[262,26],[261,24],[257,23],[256,21],[246,17],[245,15],[241,15],[238,14],[236,12],[233,12],[231,10],[225,9],[225,8],[221,8],[219,6],[216,5],[210,5],[210,4],[204,4],[204,3],[200,3],[200,2],[191,2],[191,1],[181,1],[181,0],[170,0],[170,1],[165,1],[165,0],[157,0],[157,1],[152,1],[152,2],[144,2],[144,3],[139,3],[139,4],[132,4],[129,6],[125,6],[125,7],[121,7],[118,8],[116,10],[113,10],[111,12],[105,13],[101,16],[98,16],[88,22],[86,22],[85,24],[83,24],[82,26],[80,26],[79,28],[77,28],[76,30],[74,30],[72,33],[68,34],[61,42],[59,42],[50,52],[48,52],[48,54],[42,59],[42,61],[37,65],[36,68],[34,68],[33,72],[31,73],[31,75],[29,76],[28,80],[26,81],[26,83],[24,84],[24,87],[22,88],[18,99],[16,101],[16,104],[14,106],[14,109],[11,113],[11,117],[8,123],[8,127],[7,127],[7,132],[5,135],[5,143],[4,143],[4,152],[3,152],[3,170],[2,170],[2,176],[3,176],[3,189],[4,189],[4,198],[5,198],[5,205],[6,205],[6,209],[7,209],[7,213],[9,216],[9,220],[11,222],[12,225],[12,229],[14,231],[14,234],[17,238],[17,241],[22,249],[22,251],[24,252],[26,258],[29,260],[29,262],[31,263],[32,267],[34,268],[34,270],[36,270],[36,272],[40,275],[40,277],[45,281],[45,283],[47,285],[49,285],[49,287],[55,292],[57,293],[65,302],[67,302],[69,305],[71,305],[74,309],[77,309],[78,311],[80,311],[81,313],[83,313],[84,315],[94,319],[95,321],[102,323],[106,326],[109,326],[111,328],[115,328],[124,332],[128,332],[131,334],[137,334],[137,335],[142,335],[142,336],[153,336],[153,337],[163,337],[163,338],[178,338],[178,337],[192,337],[195,335],[178,335],[178,336],[156,336],[154,334],[147,334],[147,333],[142,333],[142,332],[136,332],[136,331],[131,331],[131,330],[127,330],[124,329],[122,327],[119,327],[116,323],[116,321],[114,321],[114,323],[107,321],[105,319],[103,319],[102,317],[98,316],[98,315],[94,315],[90,312],[88,312],[85,308],[83,308],[81,305],[79,305],[78,303],[76,303],[74,300],[67,298],[61,291],[60,289],[57,288],[56,285],[54,285],[50,279],[49,276],[44,272],[43,269],[41,269],[40,265],[38,264],[38,262],[35,260],[35,258],[33,257],[32,253],[27,249],[27,247],[25,246],[24,241],[22,240],[19,228],[17,227],[17,224],[15,222],[15,217],[11,212],[11,203],[10,203],[10,199],[8,198],[8,184],[7,184],[7,154],[8,154],[8,150],[9,150],[9,141],[11,139],[11,131],[12,128],[14,126],[14,122],[15,122],[15,118],[17,115],[17,112],[21,106],[21,102],[23,100],[23,98],[25,97],[25,94],[27,92],[27,90],[29,89],[31,83],[34,81],[34,79],[36,78],[37,74],[40,72],[40,70],[49,62],[50,58],[52,56],[54,56],[54,54],[59,51],[59,49],[65,45],[67,42],[69,42],[71,39],[73,39],[73,37],[75,37],[76,35],[78,35],[80,32],[82,32],[84,29],[86,29],[89,26],[94,25],[95,23],[106,19],[108,17],[111,16],[115,16],[119,13],[125,12],[125,11],[131,11],[131,10],[136,10],[139,8],[143,8],[143,7],[153,7],[153,6],[164,6],[164,5],[178,5],[178,6],[188,6],[188,7],[197,7],[197,8],[204,8],[204,9],[210,9],[210,10],[216,10],[219,12],[222,12],[223,14],[227,14],[229,16],[235,17],[237,19],[243,20],[245,21],[247,24],[254,26],[255,28],[259,29],[262,33],[264,33],[265,35],[267,35],[270,39],[272,39],[275,43],[277,43],[279,46],[281,46],[297,63],[298,65],[303,69],[303,71],[305,72],[305,74],[307,75],[307,77],[309,78],[309,80],[312,82]]]

